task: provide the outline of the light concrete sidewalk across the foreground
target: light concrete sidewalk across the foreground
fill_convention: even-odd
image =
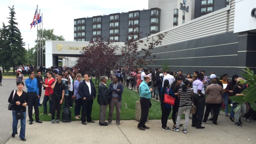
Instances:
[[[213,126],[211,121],[202,124],[205,129],[191,127],[191,120],[187,134],[173,130],[161,129],[161,120],[149,120],[146,125],[150,129],[138,130],[136,120],[121,120],[121,125],[114,121],[108,126],[100,126],[99,121],[82,125],[81,121],[71,123],[43,123],[26,122],[26,144],[256,144],[256,122],[247,123],[242,118],[243,127],[237,127],[224,112],[220,112],[218,125]],[[182,120],[181,123],[185,123]],[[168,127],[172,127],[172,120],[168,120]],[[19,128],[20,129],[20,128]],[[19,133],[18,129],[18,133]],[[6,144],[20,143],[19,134],[10,138]]]

